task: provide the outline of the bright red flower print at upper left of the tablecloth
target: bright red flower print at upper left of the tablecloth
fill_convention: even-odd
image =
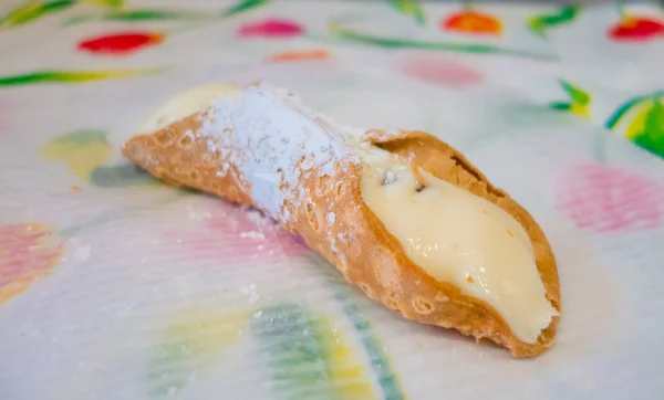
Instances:
[[[126,55],[143,48],[162,43],[165,38],[165,34],[155,32],[112,33],[81,41],[79,50],[96,54]]]

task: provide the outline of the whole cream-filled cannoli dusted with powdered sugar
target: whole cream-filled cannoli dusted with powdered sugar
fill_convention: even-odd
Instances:
[[[360,129],[267,84],[170,99],[123,146],[164,181],[261,210],[369,297],[516,357],[552,345],[556,260],[532,217],[457,150]]]

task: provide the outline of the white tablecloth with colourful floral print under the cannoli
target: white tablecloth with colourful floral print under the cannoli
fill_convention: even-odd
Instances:
[[[664,12],[652,4],[0,6],[0,399],[661,399]],[[259,213],[118,146],[169,95],[268,81],[432,131],[540,221],[557,345],[421,326]]]

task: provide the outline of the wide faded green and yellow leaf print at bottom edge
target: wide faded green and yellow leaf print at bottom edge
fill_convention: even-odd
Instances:
[[[295,304],[261,308],[251,331],[282,399],[375,399],[364,364],[339,329]]]

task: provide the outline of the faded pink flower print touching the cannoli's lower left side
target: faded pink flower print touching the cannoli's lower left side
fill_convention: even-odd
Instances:
[[[308,251],[303,241],[256,210],[216,202],[198,227],[168,236],[198,257],[281,261]]]

